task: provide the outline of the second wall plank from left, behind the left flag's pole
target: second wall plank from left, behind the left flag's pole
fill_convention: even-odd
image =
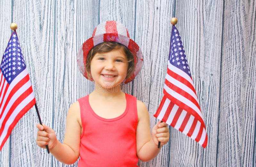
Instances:
[[[42,122],[52,126],[54,1],[14,1],[13,20],[27,64]],[[47,6],[47,7],[45,7]],[[20,19],[22,18],[22,19]],[[33,107],[15,126],[12,135],[12,166],[50,166],[52,156],[36,146],[36,124]]]

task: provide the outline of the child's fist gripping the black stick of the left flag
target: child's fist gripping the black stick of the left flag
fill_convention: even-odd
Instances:
[[[41,148],[46,148],[45,146],[48,145],[49,150],[54,148],[58,140],[52,128],[40,124],[37,124],[36,127],[38,128],[36,144]]]

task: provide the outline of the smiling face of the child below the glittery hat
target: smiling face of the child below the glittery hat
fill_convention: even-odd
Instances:
[[[91,75],[95,89],[112,89],[124,81],[128,62],[122,48],[96,53],[91,61]]]

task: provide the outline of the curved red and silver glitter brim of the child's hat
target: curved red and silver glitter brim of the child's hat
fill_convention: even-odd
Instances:
[[[88,79],[88,76],[85,70],[87,55],[94,46],[103,42],[121,43],[132,52],[132,54],[134,55],[135,69],[132,76],[130,78],[126,78],[124,80],[124,83],[126,84],[134,80],[135,76],[140,72],[141,67],[143,65],[142,51],[136,42],[134,42],[129,37],[120,35],[120,34],[98,34],[86,40],[78,50],[77,57],[76,57],[79,71],[84,75],[85,78]]]

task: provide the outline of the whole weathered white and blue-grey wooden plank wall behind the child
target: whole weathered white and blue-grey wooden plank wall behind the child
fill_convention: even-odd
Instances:
[[[178,18],[176,27],[200,101],[208,146],[204,149],[170,127],[170,141],[159,155],[139,165],[254,166],[255,1],[1,0],[1,55],[11,35],[9,25],[16,22],[42,121],[63,141],[69,106],[94,89],[78,71],[77,50],[100,22],[122,22],[145,57],[140,74],[124,91],[146,104],[152,128],[163,96],[172,17]],[[32,108],[0,151],[0,166],[68,166],[36,146],[37,123]]]

